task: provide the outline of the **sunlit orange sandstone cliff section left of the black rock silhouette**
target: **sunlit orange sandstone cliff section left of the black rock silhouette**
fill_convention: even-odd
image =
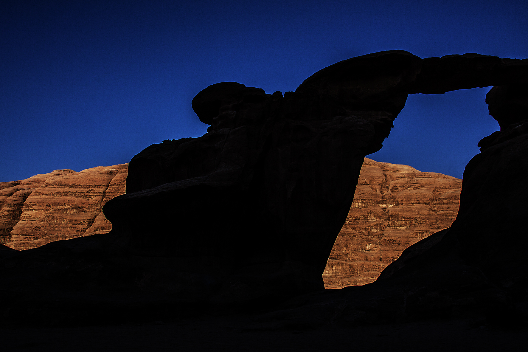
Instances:
[[[55,170],[0,183],[0,242],[14,249],[108,233],[105,203],[125,192],[128,164]]]

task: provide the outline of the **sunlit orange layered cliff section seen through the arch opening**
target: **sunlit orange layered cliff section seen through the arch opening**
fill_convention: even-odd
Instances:
[[[451,226],[462,180],[365,158],[352,207],[323,273],[325,288],[375,281],[420,239]]]

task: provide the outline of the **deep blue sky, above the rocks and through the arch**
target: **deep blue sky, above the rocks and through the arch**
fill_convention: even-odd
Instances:
[[[295,90],[382,50],[528,58],[526,1],[2,1],[0,181],[128,162],[206,132],[203,88]],[[411,95],[369,158],[462,177],[489,88]]]

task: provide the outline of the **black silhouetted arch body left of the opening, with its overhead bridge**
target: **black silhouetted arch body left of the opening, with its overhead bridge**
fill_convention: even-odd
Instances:
[[[192,102],[211,125],[208,133],[136,155],[127,194],[112,200],[105,214],[112,232],[138,254],[216,257],[221,248],[229,258],[221,260],[229,262],[219,279],[222,299],[320,289],[320,273],[352,202],[350,180],[357,179],[363,157],[381,148],[408,94],[522,82],[527,67],[525,60],[479,54],[420,59],[397,50],[333,64],[284,97],[235,82],[209,86]],[[150,236],[171,233],[163,219],[169,218],[166,203],[176,199],[182,204],[169,208],[183,215],[174,237],[159,248]],[[148,209],[163,216],[149,215],[139,230],[137,219]],[[153,226],[150,218],[163,225]],[[238,283],[238,291],[231,292],[228,282]]]

